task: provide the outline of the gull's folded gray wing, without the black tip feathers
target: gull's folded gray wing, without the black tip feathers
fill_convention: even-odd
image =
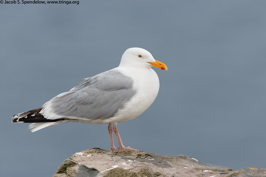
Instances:
[[[64,118],[107,119],[113,117],[136,94],[132,84],[131,78],[118,71],[106,71],[54,97],[44,105],[44,109],[49,106],[49,113]]]

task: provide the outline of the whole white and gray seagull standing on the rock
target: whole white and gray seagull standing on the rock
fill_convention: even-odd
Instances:
[[[159,78],[152,66],[167,70],[147,50],[129,48],[117,68],[86,78],[37,109],[14,115],[12,123],[32,123],[31,132],[67,122],[108,124],[111,150],[138,151],[123,145],[117,123],[138,117],[155,100]],[[114,146],[113,131],[119,148]]]

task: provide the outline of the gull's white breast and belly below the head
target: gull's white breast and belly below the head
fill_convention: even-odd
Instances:
[[[138,117],[153,103],[159,91],[159,78],[153,69],[115,69],[133,79],[133,87],[137,93],[113,117],[102,120],[103,123],[126,122]]]

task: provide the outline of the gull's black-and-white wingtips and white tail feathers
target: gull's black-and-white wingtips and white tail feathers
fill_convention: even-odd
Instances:
[[[65,122],[70,122],[69,119],[46,119],[43,117],[43,107],[33,109],[27,112],[14,115],[12,118],[15,118],[12,123],[32,123],[29,125],[29,129],[32,129],[31,132],[35,132],[45,127],[50,127],[56,124],[62,124]]]

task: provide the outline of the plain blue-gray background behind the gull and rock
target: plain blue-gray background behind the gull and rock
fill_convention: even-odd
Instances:
[[[119,123],[125,146],[266,168],[266,1],[0,4],[1,176],[52,176],[64,159],[110,149],[107,124],[31,133],[14,114],[42,106],[141,47],[165,63],[150,108]],[[118,145],[117,141],[115,142]]]

